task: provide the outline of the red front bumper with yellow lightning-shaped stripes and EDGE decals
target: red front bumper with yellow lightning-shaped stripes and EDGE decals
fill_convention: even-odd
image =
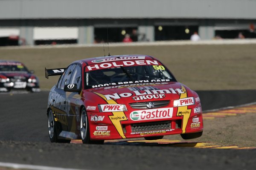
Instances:
[[[201,106],[197,105],[195,108]],[[90,139],[128,139],[149,136],[165,136],[181,133],[195,133],[203,131],[202,113],[194,113],[191,109],[189,117],[177,116],[178,108],[173,111],[172,118],[133,121],[127,113],[124,115],[112,112],[87,112],[90,129]]]

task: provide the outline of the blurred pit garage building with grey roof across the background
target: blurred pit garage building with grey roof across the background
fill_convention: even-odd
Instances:
[[[255,9],[256,0],[0,0],[0,45],[256,38]]]

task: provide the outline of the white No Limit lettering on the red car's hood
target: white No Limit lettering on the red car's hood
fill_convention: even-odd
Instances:
[[[168,90],[144,90],[144,91],[133,91],[136,96],[141,96],[141,95],[148,95],[148,94],[183,94],[185,93],[182,89],[180,88],[169,88]],[[132,93],[122,93],[122,94],[107,94],[104,95],[107,100],[111,99],[120,99],[121,97],[130,97],[132,96]]]

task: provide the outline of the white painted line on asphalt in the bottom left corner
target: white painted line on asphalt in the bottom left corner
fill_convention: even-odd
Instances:
[[[31,164],[15,164],[15,163],[6,163],[0,162],[0,167],[9,167],[14,169],[28,169],[28,170],[81,170],[81,169],[72,169],[72,168],[62,168],[62,167],[47,167],[41,165],[31,165]],[[88,169],[83,169],[88,170]]]

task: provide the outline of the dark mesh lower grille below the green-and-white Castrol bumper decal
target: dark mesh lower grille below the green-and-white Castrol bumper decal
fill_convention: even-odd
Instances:
[[[171,129],[170,121],[131,124],[131,132],[145,132],[167,129]]]

